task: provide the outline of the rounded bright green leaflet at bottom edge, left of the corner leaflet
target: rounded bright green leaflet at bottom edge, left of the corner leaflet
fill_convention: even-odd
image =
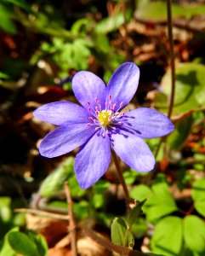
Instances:
[[[154,253],[166,256],[180,255],[183,247],[182,219],[168,216],[162,218],[156,225],[151,238],[151,249]]]

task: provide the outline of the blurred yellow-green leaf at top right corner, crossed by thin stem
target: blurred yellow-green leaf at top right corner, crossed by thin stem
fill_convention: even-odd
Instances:
[[[185,17],[190,19],[193,15],[203,15],[205,12],[205,5],[179,5],[172,3],[172,16]],[[167,5],[162,1],[146,1],[141,4],[135,14],[137,17],[147,20],[167,20]]]

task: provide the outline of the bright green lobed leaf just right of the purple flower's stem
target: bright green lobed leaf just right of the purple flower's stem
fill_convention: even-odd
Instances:
[[[173,196],[168,191],[167,183],[156,183],[152,185],[151,189],[145,185],[139,185],[130,191],[130,195],[140,200],[143,196],[143,199],[150,197],[142,210],[151,222],[178,209]]]

